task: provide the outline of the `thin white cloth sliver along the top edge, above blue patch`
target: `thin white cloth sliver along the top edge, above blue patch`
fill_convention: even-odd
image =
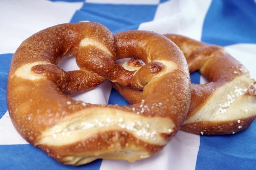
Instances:
[[[124,5],[157,5],[160,3],[160,0],[86,0],[85,2]]]

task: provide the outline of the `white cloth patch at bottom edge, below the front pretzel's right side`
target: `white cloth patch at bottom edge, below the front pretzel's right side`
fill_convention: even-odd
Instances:
[[[104,159],[100,170],[194,170],[198,148],[198,135],[179,131],[163,151],[151,158],[133,163]]]

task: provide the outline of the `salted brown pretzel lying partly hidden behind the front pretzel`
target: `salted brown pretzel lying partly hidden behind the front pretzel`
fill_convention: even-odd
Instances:
[[[166,34],[183,51],[189,72],[199,70],[209,82],[192,83],[192,96],[186,120],[180,130],[201,135],[237,133],[256,118],[256,82],[247,69],[224,47],[207,45],[188,37]],[[137,59],[119,61],[127,70],[137,70]],[[113,84],[129,103],[141,99],[141,91]]]

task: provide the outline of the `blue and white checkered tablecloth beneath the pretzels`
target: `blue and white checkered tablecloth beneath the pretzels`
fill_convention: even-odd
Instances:
[[[179,131],[149,159],[96,160],[72,167],[59,164],[28,144],[12,125],[6,82],[12,54],[32,34],[60,23],[99,22],[113,33],[128,29],[182,34],[223,45],[256,79],[256,2],[253,0],[0,0],[0,170],[256,170],[256,122],[240,133],[197,136]],[[74,58],[61,65],[77,69]],[[192,82],[203,83],[196,72]],[[107,81],[73,96],[90,103],[127,105]]]

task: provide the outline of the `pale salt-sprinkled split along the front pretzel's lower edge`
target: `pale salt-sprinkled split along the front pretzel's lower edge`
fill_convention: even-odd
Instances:
[[[160,117],[148,118],[140,114],[129,112],[119,113],[118,110],[106,108],[104,112],[97,111],[100,108],[91,108],[90,114],[84,115],[84,110],[74,113],[72,119],[66,118],[54,127],[45,131],[42,140],[38,144],[59,146],[79,142],[84,138],[92,136],[97,131],[126,130],[133,136],[150,144],[165,145],[168,141],[163,140],[161,133],[169,133],[174,127],[169,119]],[[161,124],[161,127],[158,125]],[[83,133],[81,133],[83,130]],[[80,134],[79,134],[80,133]],[[68,136],[68,138],[67,138]]]

